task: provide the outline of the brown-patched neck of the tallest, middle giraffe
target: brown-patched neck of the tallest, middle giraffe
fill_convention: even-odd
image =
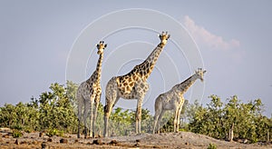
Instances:
[[[141,63],[141,65],[137,65],[135,67],[135,73],[141,75],[141,77],[146,80],[151,75],[151,72],[154,68],[154,65],[157,63],[163,47],[164,45],[162,43],[157,45],[156,48],[151,52],[151,55],[149,55],[146,60]]]

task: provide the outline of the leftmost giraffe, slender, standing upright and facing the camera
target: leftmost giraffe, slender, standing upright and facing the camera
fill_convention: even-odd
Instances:
[[[95,134],[95,122],[97,117],[97,109],[101,100],[102,87],[101,87],[101,72],[102,72],[102,59],[103,50],[107,45],[104,45],[103,41],[100,41],[96,45],[99,55],[99,59],[96,65],[95,71],[92,73],[91,77],[79,85],[76,99],[78,102],[78,134],[77,137],[80,138],[80,128],[82,122],[82,108],[83,110],[83,124],[84,124],[84,138],[87,137],[87,114],[91,104],[91,116],[90,116],[90,136]],[[94,107],[93,107],[94,106]],[[93,109],[94,108],[94,109]]]

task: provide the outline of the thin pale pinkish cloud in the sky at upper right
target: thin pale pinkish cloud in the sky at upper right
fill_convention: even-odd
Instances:
[[[225,41],[222,36],[214,35],[189,18],[188,15],[184,17],[184,25],[189,30],[189,33],[195,38],[196,42],[201,45],[206,45],[212,49],[228,50],[236,48],[240,45],[236,39]]]

